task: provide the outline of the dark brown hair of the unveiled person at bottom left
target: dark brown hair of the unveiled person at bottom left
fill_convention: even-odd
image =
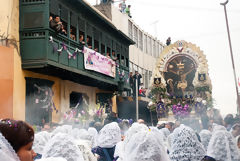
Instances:
[[[34,130],[24,121],[3,119],[0,121],[0,132],[11,144],[15,152],[34,140]]]

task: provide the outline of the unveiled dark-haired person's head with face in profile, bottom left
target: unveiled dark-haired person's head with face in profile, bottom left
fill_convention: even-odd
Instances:
[[[32,161],[36,153],[32,150],[34,130],[26,122],[12,119],[0,121],[0,132],[13,147],[21,161]]]

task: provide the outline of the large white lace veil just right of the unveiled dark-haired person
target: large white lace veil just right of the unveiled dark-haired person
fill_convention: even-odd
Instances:
[[[44,147],[43,158],[63,157],[67,161],[84,161],[74,139],[64,133],[57,133]]]

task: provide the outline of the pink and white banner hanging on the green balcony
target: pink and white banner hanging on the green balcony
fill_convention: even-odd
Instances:
[[[116,75],[116,63],[111,58],[108,58],[92,49],[84,47],[84,66],[87,70],[93,70],[110,77]]]

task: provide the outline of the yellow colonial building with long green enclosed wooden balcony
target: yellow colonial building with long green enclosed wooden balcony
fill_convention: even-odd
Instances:
[[[1,14],[13,11],[4,24],[12,26],[8,31],[20,40],[20,48],[1,47],[6,59],[1,59],[0,90],[7,92],[0,100],[0,117],[31,124],[59,122],[71,109],[83,115],[110,99],[116,112],[114,94],[130,90],[129,45],[134,42],[126,34],[84,0],[4,3],[1,8],[11,5]],[[57,17],[60,30],[50,27]]]

